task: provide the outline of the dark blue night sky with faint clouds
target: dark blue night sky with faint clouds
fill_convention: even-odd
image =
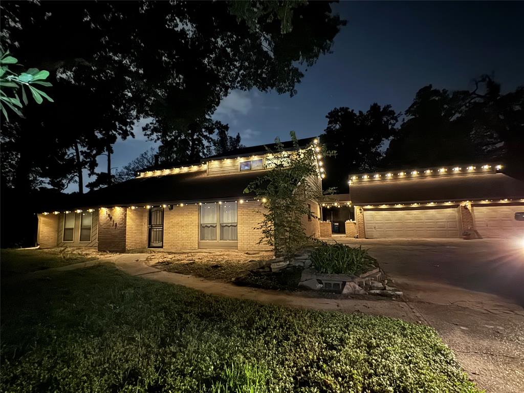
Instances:
[[[299,138],[320,135],[337,106],[366,110],[377,102],[402,112],[430,83],[471,89],[473,78],[494,73],[503,91],[524,84],[524,3],[342,2],[334,9],[347,26],[333,53],[305,72],[297,95],[233,91],[219,106],[214,117],[244,145],[287,140],[290,130]],[[155,146],[140,125],[136,134],[116,143],[113,167]]]

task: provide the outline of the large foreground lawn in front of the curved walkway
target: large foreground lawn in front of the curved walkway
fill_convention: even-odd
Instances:
[[[475,392],[431,328],[288,309],[111,265],[2,285],[5,392]]]

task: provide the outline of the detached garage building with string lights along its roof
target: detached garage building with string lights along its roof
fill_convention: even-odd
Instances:
[[[503,169],[499,163],[484,163],[352,174],[347,203],[354,208],[354,220],[346,222],[346,236],[524,235],[524,222],[515,220],[515,213],[524,211],[524,182]]]

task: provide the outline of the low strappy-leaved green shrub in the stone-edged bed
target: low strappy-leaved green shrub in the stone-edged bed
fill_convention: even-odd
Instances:
[[[362,246],[353,248],[343,244],[324,244],[311,253],[311,262],[321,273],[359,275],[377,267],[377,260]]]

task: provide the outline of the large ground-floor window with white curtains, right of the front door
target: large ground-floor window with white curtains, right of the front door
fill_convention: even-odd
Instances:
[[[201,241],[236,241],[237,236],[236,202],[200,205]]]

